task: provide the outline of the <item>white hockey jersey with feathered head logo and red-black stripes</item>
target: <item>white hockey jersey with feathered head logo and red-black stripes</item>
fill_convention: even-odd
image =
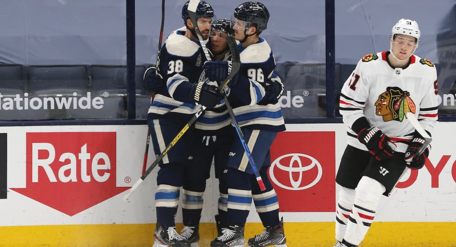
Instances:
[[[416,55],[405,68],[391,68],[383,51],[367,54],[358,62],[340,95],[339,111],[348,125],[348,144],[367,150],[352,131],[353,123],[365,116],[405,152],[415,129],[407,120],[412,112],[421,126],[432,132],[437,123],[437,72],[434,64]]]

